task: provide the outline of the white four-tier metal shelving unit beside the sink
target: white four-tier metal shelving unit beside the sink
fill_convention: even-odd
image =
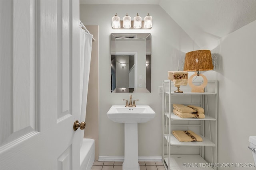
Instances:
[[[194,83],[200,85],[200,82]],[[180,86],[183,93],[170,80],[163,80],[163,162],[166,170],[216,170],[218,82],[208,81],[204,93],[190,92],[189,86]],[[204,108],[205,118],[180,118],[172,113],[172,104],[195,105]],[[173,130],[192,130],[202,142],[180,142]]]

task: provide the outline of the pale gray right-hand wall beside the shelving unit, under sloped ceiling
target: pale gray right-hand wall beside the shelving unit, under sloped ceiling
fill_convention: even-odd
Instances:
[[[220,163],[254,163],[252,153],[247,146],[249,136],[256,135],[255,30],[256,21],[253,21],[222,38],[220,45],[212,50],[217,58],[216,71],[219,81],[218,162]]]

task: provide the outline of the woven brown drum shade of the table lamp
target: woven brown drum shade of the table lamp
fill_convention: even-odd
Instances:
[[[184,71],[204,71],[212,69],[212,55],[210,50],[197,50],[186,53]]]

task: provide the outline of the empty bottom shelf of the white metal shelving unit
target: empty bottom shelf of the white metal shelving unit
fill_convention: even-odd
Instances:
[[[168,166],[168,158],[164,161]],[[207,163],[200,155],[171,155],[170,168],[171,170],[214,170],[212,164]]]

